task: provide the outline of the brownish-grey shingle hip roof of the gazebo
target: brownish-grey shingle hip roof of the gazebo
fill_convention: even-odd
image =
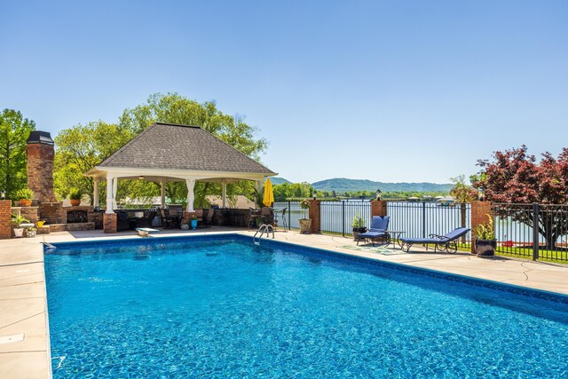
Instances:
[[[199,126],[162,122],[149,126],[98,166],[275,174]]]

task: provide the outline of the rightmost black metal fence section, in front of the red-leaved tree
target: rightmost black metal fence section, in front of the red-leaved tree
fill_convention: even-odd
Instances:
[[[568,261],[568,205],[493,204],[500,254]]]

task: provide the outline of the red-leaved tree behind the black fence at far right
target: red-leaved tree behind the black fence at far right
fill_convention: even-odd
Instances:
[[[486,200],[512,204],[568,203],[568,148],[564,147],[557,158],[544,153],[540,162],[527,154],[525,145],[495,152],[493,159],[493,162],[477,161],[481,172],[472,177],[472,186],[485,192]],[[500,216],[538,228],[549,249],[556,249],[558,237],[568,233],[568,217],[556,207],[541,207],[537,217],[529,206],[500,209]],[[538,225],[533,225],[535,218]]]

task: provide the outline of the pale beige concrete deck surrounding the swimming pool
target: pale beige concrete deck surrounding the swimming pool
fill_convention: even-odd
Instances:
[[[254,234],[242,229],[214,227],[190,232],[164,230],[147,238],[235,232]],[[60,232],[44,237],[47,242],[142,238],[134,231]],[[420,248],[413,248],[410,253],[394,250],[387,255],[378,252],[379,249],[357,248],[350,238],[296,231],[277,232],[275,240],[568,295],[568,265],[506,257],[479,258],[464,252],[451,255]],[[43,236],[0,241],[0,378],[36,379],[48,378],[51,374],[42,241]],[[20,334],[24,334],[23,340],[2,343],[3,337]]]

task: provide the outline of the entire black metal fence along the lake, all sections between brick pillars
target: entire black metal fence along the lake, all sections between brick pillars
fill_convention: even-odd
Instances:
[[[299,201],[280,201],[274,208],[287,209],[290,228],[300,227],[298,219],[308,216]],[[516,257],[568,261],[568,205],[493,204],[497,253]],[[351,235],[351,221],[359,213],[367,227],[371,203],[364,200],[321,201],[321,232]],[[471,228],[471,205],[443,205],[435,201],[387,201],[389,229],[404,231],[406,237],[446,234],[456,227]],[[281,224],[281,222],[280,222]],[[533,228],[533,225],[537,227]],[[469,238],[461,239],[467,248]]]

